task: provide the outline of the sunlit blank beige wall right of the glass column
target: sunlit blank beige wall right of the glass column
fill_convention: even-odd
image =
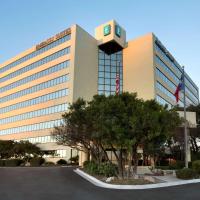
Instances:
[[[137,92],[139,98],[154,99],[153,35],[128,42],[123,49],[123,90]]]

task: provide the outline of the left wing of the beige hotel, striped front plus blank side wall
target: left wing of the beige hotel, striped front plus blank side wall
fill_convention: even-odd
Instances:
[[[30,81],[24,81],[19,86],[9,88],[1,93],[1,103],[0,103],[0,120],[3,120],[0,127],[0,139],[3,140],[29,140],[33,143],[41,143],[40,147],[43,150],[52,150],[52,148],[56,151],[67,150],[68,147],[58,146],[55,144],[55,141],[50,137],[53,123],[56,120],[61,119],[61,114],[67,111],[67,106],[63,106],[63,110],[60,109],[55,110],[55,107],[63,104],[69,104],[73,101],[77,100],[79,97],[89,100],[92,96],[97,92],[98,87],[98,46],[97,41],[90,36],[86,31],[84,31],[78,25],[73,25],[69,29],[67,29],[67,34],[63,37],[69,37],[66,41],[58,43],[54,45],[54,47],[44,50],[44,52],[39,53],[36,56],[33,56],[30,59],[27,59],[24,62],[16,63],[16,65],[11,66],[10,69],[3,71],[0,73],[0,88],[7,87],[8,85],[19,83],[22,79],[26,77],[33,77],[35,74],[41,74],[42,71],[48,71],[48,69],[59,66],[59,64],[63,62],[69,62],[68,66],[62,67],[61,69],[54,69],[54,71],[49,70],[45,75],[40,75],[33,77]],[[61,32],[62,33],[62,32]],[[53,39],[52,39],[53,38]],[[45,42],[40,43],[32,47],[31,49],[19,54],[18,56],[6,61],[5,63],[0,65],[0,69],[5,69],[9,64],[12,64],[19,59],[24,58],[27,55],[32,55],[34,52],[37,52],[38,46],[42,46],[42,48],[47,48],[52,43],[57,42],[59,39],[55,39],[56,36],[46,40]],[[50,42],[48,42],[50,41]],[[46,43],[46,44],[44,44]],[[70,48],[68,53],[64,53],[64,55],[57,55],[52,59],[47,60],[46,62],[42,62],[40,65],[32,67],[32,69],[24,70],[22,73],[15,74],[19,70],[23,70],[27,66],[30,66],[33,63],[36,63],[42,59],[45,59],[49,56],[55,55],[55,53],[64,50],[65,48]],[[66,65],[66,64],[65,64]],[[4,77],[10,76],[14,74],[12,78],[3,81]],[[58,79],[62,76],[68,76],[68,79],[63,82],[55,82],[50,86],[45,85],[45,83]],[[58,81],[58,80],[57,80]],[[43,84],[44,88],[38,89],[37,85]],[[35,91],[29,92],[27,94],[21,94],[20,97],[13,97],[8,101],[5,100],[6,97],[12,94],[16,94],[20,91],[27,90],[31,87],[36,87]],[[6,89],[6,88],[5,88]],[[60,97],[54,97],[50,99],[46,99],[41,102],[31,103],[26,106],[20,105],[20,103],[24,103],[27,101],[31,101],[35,98],[41,98],[48,96],[49,94],[56,93],[61,90],[67,89],[67,93],[65,95],[61,95]],[[53,95],[52,95],[53,96]],[[18,105],[15,109],[10,109],[12,105]],[[56,108],[57,108],[56,107]],[[5,108],[9,108],[10,111]],[[51,110],[52,109],[52,110]],[[48,111],[47,111],[48,110]],[[49,111],[50,110],[50,111]],[[37,112],[41,113],[37,116]],[[47,112],[47,113],[45,113]],[[31,116],[33,115],[34,116]],[[36,113],[36,114],[35,114]],[[17,117],[21,117],[21,119],[17,119]],[[26,117],[27,116],[27,117]],[[7,120],[7,121],[6,121]],[[39,127],[38,124],[50,122],[51,126],[49,128]],[[36,126],[36,130],[33,126]],[[58,125],[58,124],[55,124]],[[21,131],[20,127],[32,126],[32,129]],[[13,130],[15,129],[15,130]],[[29,128],[26,128],[29,129]],[[10,131],[6,134],[5,131]],[[66,153],[66,157],[69,158],[69,152]]]

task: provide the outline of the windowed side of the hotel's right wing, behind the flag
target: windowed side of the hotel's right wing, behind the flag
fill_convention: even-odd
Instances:
[[[154,68],[156,84],[161,84],[161,87],[156,85],[156,94],[168,102],[169,105],[176,105],[174,93],[180,82],[183,73],[182,67],[176,62],[174,57],[163,46],[163,44],[154,35]],[[199,103],[198,87],[185,72],[186,86],[186,105],[197,105]],[[163,89],[164,87],[164,89]],[[164,92],[164,90],[167,91]],[[196,92],[195,92],[196,91]],[[183,107],[183,94],[180,94],[179,105]]]

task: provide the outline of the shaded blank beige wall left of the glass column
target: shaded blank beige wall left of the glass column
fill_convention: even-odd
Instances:
[[[73,101],[79,97],[90,100],[98,90],[97,41],[77,25],[74,41]]]

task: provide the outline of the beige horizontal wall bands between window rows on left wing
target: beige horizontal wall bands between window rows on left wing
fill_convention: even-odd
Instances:
[[[72,32],[71,34],[74,35],[74,32]],[[71,45],[72,45],[72,40],[68,40],[66,42],[63,42],[62,44],[55,46],[55,47],[33,57],[33,58],[31,58],[31,59],[29,59],[25,62],[22,62],[22,63],[16,65],[15,67],[1,73],[0,78],[5,77],[6,75],[9,75],[10,73],[13,73],[13,72],[15,72],[19,69],[22,69],[23,67],[28,66],[29,64],[32,64],[36,61],[39,61],[40,59],[45,58],[47,56],[50,56],[53,53],[56,53],[56,52],[66,48],[66,47],[69,47]],[[19,54],[18,56],[14,57],[13,59],[3,63],[1,65],[1,67],[4,67],[5,65],[10,64],[11,62],[18,60],[18,59],[26,56],[27,54],[34,52],[34,51],[36,51],[36,46],[34,46],[31,49]],[[48,69],[48,68],[50,68],[54,65],[57,65],[59,63],[66,61],[66,60],[71,60],[72,58],[73,57],[71,56],[71,54],[66,54],[66,55],[63,55],[61,57],[58,57],[58,58],[56,58],[56,59],[54,59],[50,62],[44,63],[44,64],[42,64],[42,65],[40,65],[40,66],[38,66],[38,67],[36,67],[32,70],[29,70],[25,73],[22,73],[18,76],[15,76],[14,78],[11,78],[9,80],[1,82],[0,87],[4,87],[6,85],[14,83],[18,80],[21,80],[21,79],[28,77],[30,75],[33,75],[35,73],[46,70],[46,69]],[[18,91],[30,88],[32,86],[38,85],[40,83],[55,79],[55,78],[60,77],[62,75],[68,74],[68,73],[70,73],[70,67],[71,67],[71,64],[67,68],[61,69],[61,70],[56,71],[54,73],[50,73],[50,74],[45,75],[45,76],[38,78],[36,80],[29,81],[25,84],[18,86],[18,87],[7,90],[7,91],[5,91],[1,94],[1,98],[4,97],[4,96],[10,95],[10,94],[16,93]],[[48,88],[30,93],[30,94],[27,94],[27,95],[23,95],[19,98],[14,98],[10,101],[0,103],[0,109],[3,108],[3,107],[6,107],[6,106],[10,106],[10,105],[13,105],[13,104],[16,104],[16,103],[19,103],[19,102],[30,100],[30,99],[33,99],[35,97],[39,97],[39,96],[49,94],[49,93],[52,93],[52,92],[55,92],[55,91],[58,91],[58,90],[61,90],[61,89],[64,89],[64,88],[69,88],[69,87],[70,87],[70,82],[64,82],[64,83],[61,83],[61,84],[58,84],[58,85],[54,85],[52,87],[48,87]],[[65,97],[62,97],[62,98],[52,99],[52,100],[42,102],[42,103],[39,103],[39,104],[30,105],[28,107],[12,110],[12,111],[5,112],[5,113],[1,114],[0,119],[19,115],[19,114],[23,114],[23,113],[27,113],[27,112],[36,111],[36,110],[43,109],[43,108],[48,108],[48,107],[59,105],[59,104],[70,103],[70,101],[69,101],[70,99],[72,99],[72,98],[65,96]],[[12,122],[12,123],[1,124],[0,130],[61,119],[61,114],[62,113],[57,112],[57,113],[53,113],[53,114],[43,115],[43,116],[40,116],[40,117],[34,117],[34,118],[25,119],[25,120],[21,120],[21,121],[15,121],[15,122]],[[30,138],[30,137],[45,136],[45,135],[50,135],[51,130],[52,129],[43,129],[43,130],[31,131],[31,132],[21,132],[21,133],[16,133],[16,134],[0,135],[0,139],[19,140],[19,139]]]

